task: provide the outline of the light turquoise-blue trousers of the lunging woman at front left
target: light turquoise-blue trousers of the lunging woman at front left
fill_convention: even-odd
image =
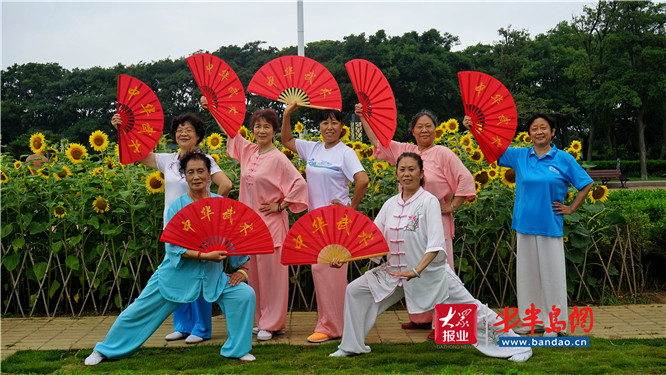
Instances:
[[[220,355],[240,358],[252,349],[254,290],[245,283],[232,287],[227,282],[216,302],[226,316],[229,335]],[[180,305],[164,299],[157,277],[151,277],[139,297],[118,316],[104,341],[95,345],[95,350],[107,358],[129,357]]]

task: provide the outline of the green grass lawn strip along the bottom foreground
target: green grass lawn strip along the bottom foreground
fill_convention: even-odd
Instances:
[[[526,363],[489,358],[471,346],[373,344],[372,353],[330,358],[337,343],[256,346],[256,362],[219,355],[219,346],[141,348],[133,356],[85,367],[91,350],[22,351],[2,361],[2,373],[105,374],[664,374],[666,339],[590,339],[589,348],[534,348]]]

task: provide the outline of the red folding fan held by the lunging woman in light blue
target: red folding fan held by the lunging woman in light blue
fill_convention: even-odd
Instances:
[[[200,199],[178,211],[164,228],[160,241],[205,253],[274,251],[273,237],[264,220],[243,203],[221,197]]]

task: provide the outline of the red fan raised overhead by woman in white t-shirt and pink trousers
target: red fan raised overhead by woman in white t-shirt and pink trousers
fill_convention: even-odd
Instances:
[[[269,61],[252,77],[247,91],[282,103],[342,110],[340,88],[331,72],[304,56]]]

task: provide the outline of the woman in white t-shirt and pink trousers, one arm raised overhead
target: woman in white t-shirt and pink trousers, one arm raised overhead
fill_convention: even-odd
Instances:
[[[356,209],[368,189],[367,173],[356,152],[340,142],[342,113],[325,109],[319,115],[319,130],[323,142],[294,139],[291,114],[298,105],[292,103],[282,117],[282,144],[307,162],[308,209],[331,204]],[[349,183],[354,182],[354,194],[349,198]],[[344,299],[347,287],[347,266],[334,269],[326,264],[312,265],[317,296],[317,327],[309,342],[324,342],[342,335]]]

